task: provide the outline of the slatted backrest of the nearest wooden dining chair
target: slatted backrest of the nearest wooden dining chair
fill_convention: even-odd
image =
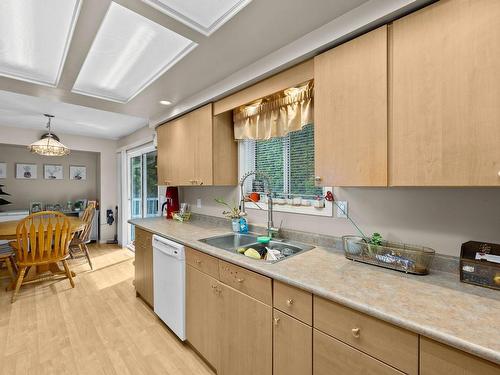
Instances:
[[[19,263],[59,260],[68,254],[71,225],[61,212],[42,211],[17,224],[16,255]]]

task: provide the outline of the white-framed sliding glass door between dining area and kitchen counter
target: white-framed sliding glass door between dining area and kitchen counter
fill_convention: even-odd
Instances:
[[[158,186],[156,150],[153,146],[127,153],[128,218],[137,219],[158,215]],[[133,246],[135,231],[128,225],[127,245]]]

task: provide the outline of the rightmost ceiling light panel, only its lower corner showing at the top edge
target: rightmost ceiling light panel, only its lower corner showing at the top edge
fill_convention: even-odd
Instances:
[[[233,18],[252,0],[142,0],[206,36]]]

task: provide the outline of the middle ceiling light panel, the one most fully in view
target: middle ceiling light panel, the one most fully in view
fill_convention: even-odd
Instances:
[[[72,91],[126,103],[196,46],[111,2]]]

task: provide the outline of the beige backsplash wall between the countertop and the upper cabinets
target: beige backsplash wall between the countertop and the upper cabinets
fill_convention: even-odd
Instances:
[[[500,243],[500,189],[350,188],[335,189],[347,200],[349,214],[366,234],[380,232],[386,239],[425,245],[438,253],[460,255],[468,240]],[[221,216],[213,200],[238,199],[236,188],[189,187],[182,200],[193,212]],[[202,208],[196,208],[196,199]],[[250,221],[265,225],[266,212],[248,210]],[[275,213],[275,225],[335,236],[356,233],[346,219]]]

